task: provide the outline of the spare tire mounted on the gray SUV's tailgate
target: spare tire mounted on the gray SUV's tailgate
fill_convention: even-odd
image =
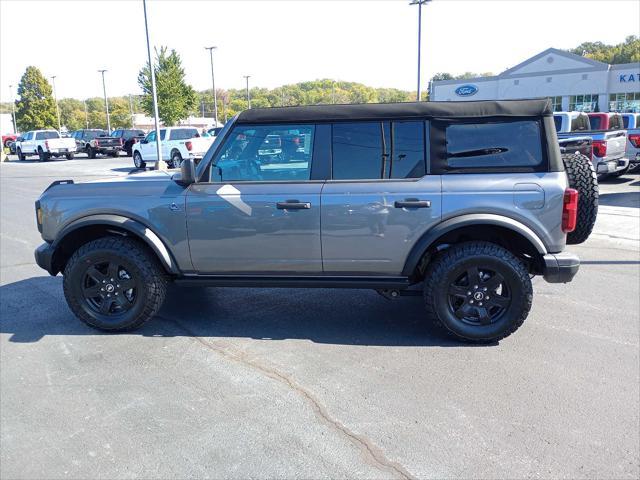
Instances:
[[[593,162],[579,153],[562,155],[569,187],[578,191],[578,218],[576,229],[567,234],[567,244],[583,243],[591,235],[598,215],[598,176]]]

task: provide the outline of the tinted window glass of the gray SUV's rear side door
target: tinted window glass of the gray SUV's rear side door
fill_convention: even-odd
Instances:
[[[425,175],[422,121],[336,123],[332,130],[334,180]]]

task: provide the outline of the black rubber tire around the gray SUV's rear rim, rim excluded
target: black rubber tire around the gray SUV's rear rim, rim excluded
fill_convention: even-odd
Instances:
[[[495,322],[486,325],[465,323],[455,316],[449,305],[452,278],[473,266],[499,271],[509,289],[509,305]],[[482,289],[482,282],[479,285]],[[470,291],[473,291],[471,285]],[[423,294],[427,318],[437,328],[464,342],[494,343],[515,332],[527,318],[533,288],[527,268],[515,255],[494,243],[475,241],[453,245],[431,261]]]

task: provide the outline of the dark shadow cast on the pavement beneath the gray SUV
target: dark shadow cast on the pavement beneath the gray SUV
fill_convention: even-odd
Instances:
[[[0,333],[16,343],[33,343],[51,335],[109,335],[89,328],[71,313],[61,280],[42,276],[0,286]],[[159,314],[126,335],[474,346],[434,329],[425,320],[421,297],[387,300],[369,290],[170,286]]]

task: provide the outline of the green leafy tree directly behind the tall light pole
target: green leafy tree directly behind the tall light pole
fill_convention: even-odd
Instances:
[[[154,65],[158,95],[158,114],[162,122],[175,125],[179,120],[195,113],[198,97],[195,90],[185,82],[182,61],[175,50],[167,54],[167,47],[156,49]],[[151,69],[149,64],[138,73],[138,85],[142,88],[142,108],[153,115],[153,95],[151,90]]]

